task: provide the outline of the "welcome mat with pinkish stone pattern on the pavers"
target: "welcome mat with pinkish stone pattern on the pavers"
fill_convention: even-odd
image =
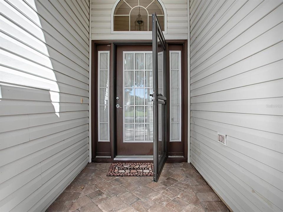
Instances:
[[[112,163],[106,176],[153,176],[153,163]]]

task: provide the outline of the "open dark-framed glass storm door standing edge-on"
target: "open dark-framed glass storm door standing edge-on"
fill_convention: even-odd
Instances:
[[[152,21],[153,181],[157,182],[167,159],[166,42],[155,13]]]

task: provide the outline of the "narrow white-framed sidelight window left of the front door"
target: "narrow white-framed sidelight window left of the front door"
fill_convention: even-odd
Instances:
[[[98,51],[98,141],[109,142],[109,51]]]

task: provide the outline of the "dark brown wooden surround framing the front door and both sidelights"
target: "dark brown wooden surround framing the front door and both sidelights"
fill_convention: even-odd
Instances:
[[[92,57],[91,57],[91,83],[92,83],[92,98],[91,98],[91,144],[92,144],[92,161],[93,162],[113,162],[113,158],[116,156],[116,120],[115,120],[115,56],[116,47],[119,46],[131,46],[136,49],[136,46],[150,46],[151,40],[93,40],[92,41]],[[110,142],[98,142],[97,136],[97,54],[98,51],[110,51]],[[168,139],[168,155],[177,156],[174,158],[167,158],[167,162],[185,162],[187,161],[187,129],[188,129],[188,73],[187,73],[187,40],[167,40],[167,57],[169,57],[170,50],[180,50],[181,51],[181,67],[182,67],[182,142],[169,142]],[[132,51],[132,50],[131,50]],[[138,50],[135,50],[138,51]],[[145,51],[145,50],[143,50]],[[150,50],[152,49],[150,48]],[[167,60],[167,67],[169,67],[169,61]],[[168,72],[167,72],[168,73]],[[167,76],[167,85],[169,83],[169,75]],[[167,90],[169,92],[169,89]],[[167,101],[170,101],[170,95],[167,94]],[[167,107],[167,113],[169,114],[169,107]],[[169,138],[169,123],[168,123],[168,138]],[[152,154],[152,153],[151,153]],[[180,156],[180,157],[179,157]],[[102,158],[101,158],[102,157]],[[109,158],[108,158],[109,157]],[[118,160],[115,160],[118,161]]]

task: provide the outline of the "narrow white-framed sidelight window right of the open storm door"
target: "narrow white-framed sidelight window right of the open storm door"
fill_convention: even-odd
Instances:
[[[170,142],[181,141],[181,52],[170,51]]]

